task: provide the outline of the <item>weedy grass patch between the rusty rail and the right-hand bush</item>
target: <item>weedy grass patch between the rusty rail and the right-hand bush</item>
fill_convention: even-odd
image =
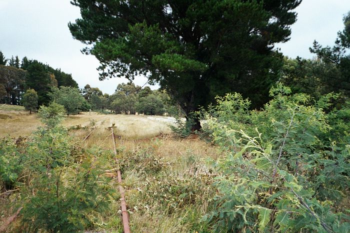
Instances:
[[[157,146],[152,141],[136,151],[118,150],[131,229],[134,232],[159,229],[173,232],[171,229],[176,228],[181,232],[206,231],[208,225],[202,224],[200,218],[214,197],[212,170],[190,152],[177,162],[156,157]],[[142,222],[144,218],[148,222]],[[159,223],[159,218],[166,226]]]

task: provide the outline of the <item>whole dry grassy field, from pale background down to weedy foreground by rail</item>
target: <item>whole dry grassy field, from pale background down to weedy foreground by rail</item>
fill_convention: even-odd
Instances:
[[[200,219],[209,210],[215,194],[211,188],[213,174],[205,162],[219,156],[216,148],[198,137],[185,140],[171,136],[168,122],[146,116],[102,115],[82,113],[67,117],[63,125],[80,146],[111,150],[114,124],[117,159],[122,164],[122,179],[129,211],[131,232],[205,232]],[[0,137],[30,135],[41,125],[36,114],[23,110],[0,110]],[[93,129],[91,136],[83,138]],[[112,166],[114,161],[110,161]],[[115,190],[117,184],[115,183]],[[9,200],[0,205],[9,205]],[[110,210],[92,216],[94,229],[122,232],[120,202],[115,200]],[[15,209],[2,208],[0,216],[10,216]],[[0,222],[1,224],[1,222]],[[18,231],[20,221],[8,231]]]

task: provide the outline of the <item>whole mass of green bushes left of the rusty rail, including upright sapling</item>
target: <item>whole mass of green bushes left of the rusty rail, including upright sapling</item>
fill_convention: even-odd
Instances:
[[[42,106],[39,115],[47,127],[39,128],[25,143],[0,141],[0,178],[20,190],[20,204],[16,203],[23,207],[20,231],[92,228],[93,213],[107,211],[114,200],[106,174],[111,151],[82,149],[73,143],[68,130],[57,125],[63,117],[61,105]]]

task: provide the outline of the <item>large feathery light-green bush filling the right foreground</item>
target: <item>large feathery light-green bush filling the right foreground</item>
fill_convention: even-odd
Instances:
[[[249,111],[238,94],[217,99],[207,124],[226,156],[215,165],[214,211],[203,219],[216,231],[349,231],[341,203],[348,199],[350,146],[345,133],[330,135],[328,124],[340,110],[326,114],[309,96],[289,93],[272,88],[262,111]]]

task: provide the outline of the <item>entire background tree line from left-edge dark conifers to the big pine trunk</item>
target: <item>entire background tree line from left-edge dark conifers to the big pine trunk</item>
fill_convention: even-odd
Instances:
[[[89,84],[79,90],[71,74],[27,57],[21,61],[18,56],[7,59],[0,51],[0,103],[23,105],[31,113],[50,101],[63,105],[67,114],[106,109],[115,114],[181,112],[164,90],[152,91],[131,82],[119,84],[112,95]]]

